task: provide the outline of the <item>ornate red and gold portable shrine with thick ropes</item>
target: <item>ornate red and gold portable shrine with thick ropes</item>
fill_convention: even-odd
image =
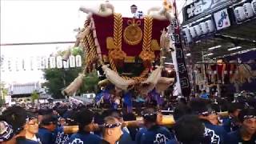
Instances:
[[[162,92],[172,85],[174,78],[162,77],[162,58],[170,55],[171,46],[166,32],[172,19],[168,3],[144,18],[123,18],[122,14],[114,13],[108,2],[101,6],[105,6],[105,12],[84,9],[89,17],[78,34],[79,46],[85,51],[86,67],[82,74],[92,72],[100,64],[107,78],[100,84],[111,82],[119,90],[135,87],[141,94],[154,88]],[[74,94],[81,78],[82,75],[76,78],[64,92]]]

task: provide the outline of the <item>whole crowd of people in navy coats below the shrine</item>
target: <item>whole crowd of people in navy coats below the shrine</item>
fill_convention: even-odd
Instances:
[[[158,106],[139,114],[127,110],[58,102],[43,106],[10,106],[0,116],[0,143],[7,144],[240,144],[256,143],[255,98],[190,98],[174,104],[172,126],[162,126]],[[220,112],[228,115],[221,116]],[[139,127],[125,121],[142,117]],[[74,134],[64,126],[78,126]]]

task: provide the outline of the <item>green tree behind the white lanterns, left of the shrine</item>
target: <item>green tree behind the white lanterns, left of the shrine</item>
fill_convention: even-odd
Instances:
[[[58,55],[65,54],[65,51],[58,51]],[[82,55],[83,51],[79,47],[74,47],[71,49],[71,54],[74,56],[77,54]],[[53,98],[64,98],[62,95],[62,90],[69,86],[75,78],[78,77],[78,74],[82,72],[82,67],[75,67],[69,69],[47,69],[44,70],[43,77],[46,79],[46,82],[42,86],[46,86],[48,94],[51,94]],[[77,94],[93,92],[96,90],[98,85],[98,75],[96,72],[92,74],[87,74],[83,80],[83,85],[78,90]]]

